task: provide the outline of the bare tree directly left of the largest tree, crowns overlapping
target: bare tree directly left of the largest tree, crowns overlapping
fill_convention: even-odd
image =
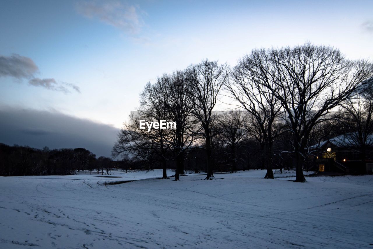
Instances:
[[[261,158],[267,173],[264,178],[273,179],[272,146],[279,135],[278,122],[282,112],[280,101],[268,89],[278,90],[275,72],[270,70],[264,50],[244,56],[231,72],[231,81],[226,87],[238,106],[248,112],[250,134],[261,147]]]

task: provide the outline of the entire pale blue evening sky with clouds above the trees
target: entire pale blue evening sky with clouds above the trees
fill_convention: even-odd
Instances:
[[[0,142],[91,146],[108,156],[113,131],[157,76],[206,58],[234,66],[252,49],[305,42],[372,59],[372,41],[372,0],[3,0]],[[57,130],[64,139],[51,135]]]

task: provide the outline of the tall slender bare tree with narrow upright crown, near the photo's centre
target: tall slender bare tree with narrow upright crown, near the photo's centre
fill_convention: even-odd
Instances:
[[[211,158],[211,115],[217,102],[220,88],[228,80],[226,65],[219,65],[217,61],[203,60],[191,65],[185,70],[185,78],[189,85],[188,94],[193,103],[192,114],[201,122],[201,135],[206,141],[207,176],[214,177]]]

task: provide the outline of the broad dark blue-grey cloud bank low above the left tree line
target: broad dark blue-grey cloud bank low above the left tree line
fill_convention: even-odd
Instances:
[[[0,106],[0,143],[38,149],[86,148],[110,156],[118,129],[60,112]]]

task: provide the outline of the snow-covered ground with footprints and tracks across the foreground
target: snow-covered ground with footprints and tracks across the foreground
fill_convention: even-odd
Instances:
[[[0,177],[0,248],[373,247],[373,175],[127,174]]]

